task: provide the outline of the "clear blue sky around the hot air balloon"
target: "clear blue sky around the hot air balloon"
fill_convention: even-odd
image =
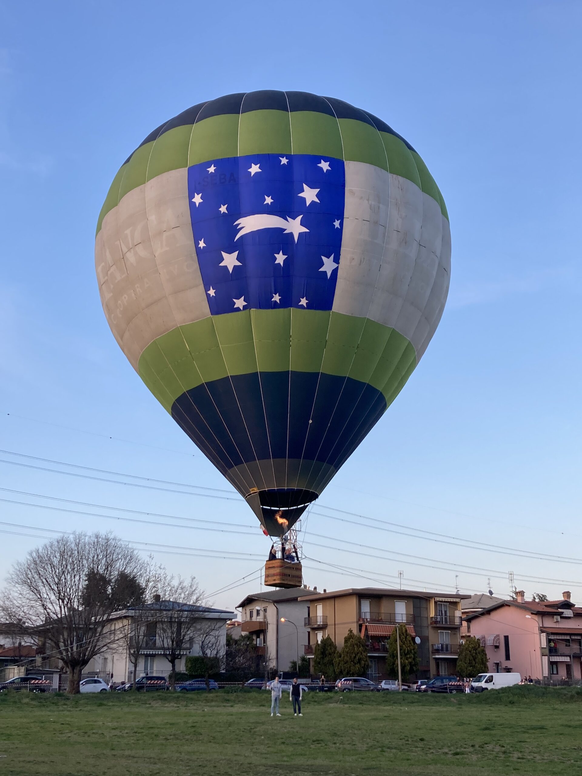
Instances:
[[[2,449],[228,489],[110,334],[95,281],[95,223],[130,151],[186,107],[258,88],[332,95],[380,116],[421,153],[449,209],[452,284],[421,364],[320,501],[478,547],[310,514],[307,584],[379,584],[379,574],[397,584],[402,570],[404,587],[449,591],[458,575],[462,591],[486,590],[491,578],[507,594],[513,570],[528,595],[570,589],[582,601],[580,4],[101,0],[0,9]],[[99,528],[148,542],[158,562],[196,574],[212,594],[251,575],[213,595],[217,604],[258,589],[268,541],[238,497],[5,462],[0,486],[241,526],[239,534],[201,523],[147,526],[0,501],[3,523],[34,527],[0,525],[12,532],[0,534],[2,576],[50,535],[40,529]],[[22,493],[0,497],[104,512]],[[487,551],[499,547],[532,556]],[[209,550],[248,557],[210,559]]]

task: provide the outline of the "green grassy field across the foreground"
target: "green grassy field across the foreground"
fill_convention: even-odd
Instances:
[[[318,694],[271,719],[265,691],[0,696],[0,772],[26,776],[582,771],[582,690]]]

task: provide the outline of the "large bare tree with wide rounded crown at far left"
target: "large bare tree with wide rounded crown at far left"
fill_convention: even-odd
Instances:
[[[140,591],[143,574],[144,561],[113,535],[61,536],[14,564],[4,608],[35,626],[47,653],[68,670],[74,695],[83,668],[118,638],[111,617],[130,603],[122,598]]]

